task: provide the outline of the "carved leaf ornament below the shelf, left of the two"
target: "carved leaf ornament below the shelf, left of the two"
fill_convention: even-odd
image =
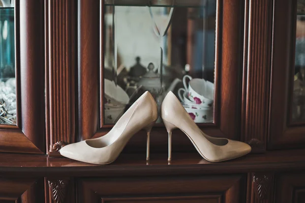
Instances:
[[[69,181],[64,180],[48,180],[51,196],[56,203],[64,203],[67,194],[67,185]]]

